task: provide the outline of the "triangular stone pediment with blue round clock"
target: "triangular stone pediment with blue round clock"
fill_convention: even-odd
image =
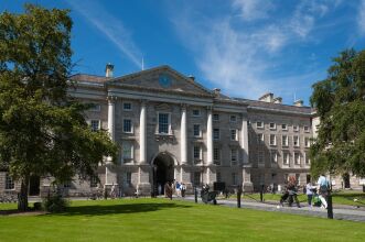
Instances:
[[[211,90],[197,84],[193,78],[186,77],[169,66],[160,66],[127,76],[117,77],[109,80],[108,85],[196,96],[213,95]]]

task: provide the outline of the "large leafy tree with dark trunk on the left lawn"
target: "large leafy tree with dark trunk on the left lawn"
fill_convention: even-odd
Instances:
[[[24,8],[0,14],[0,167],[21,183],[19,210],[28,209],[31,175],[88,179],[116,154],[107,132],[87,125],[90,106],[67,92],[75,85],[68,11]]]

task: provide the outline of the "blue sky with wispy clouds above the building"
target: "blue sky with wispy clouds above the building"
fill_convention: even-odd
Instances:
[[[21,12],[21,0],[0,11]],[[207,88],[309,105],[331,58],[365,48],[365,0],[36,0],[74,20],[74,73],[115,76],[170,65]]]

